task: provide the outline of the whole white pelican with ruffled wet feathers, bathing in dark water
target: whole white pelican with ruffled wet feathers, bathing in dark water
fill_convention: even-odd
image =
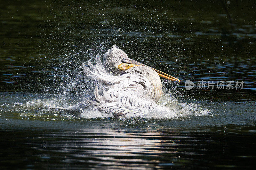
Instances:
[[[93,104],[116,117],[143,116],[165,110],[156,104],[162,93],[160,77],[180,82],[178,78],[129,58],[116,45],[103,55],[103,64],[99,53],[95,63],[88,62],[90,69],[82,63],[85,75],[104,85],[101,91],[95,86]]]

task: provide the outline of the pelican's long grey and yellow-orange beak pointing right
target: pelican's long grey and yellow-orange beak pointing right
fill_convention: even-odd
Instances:
[[[140,65],[141,66],[149,67],[149,66],[147,66],[145,64],[142,64],[142,63],[139,63],[139,62],[137,62],[135,60],[132,60],[131,58],[127,58],[127,59],[124,59],[124,60],[121,60],[121,61],[122,61],[122,63],[118,65],[118,68],[120,70],[127,70],[127,69],[130,69],[130,68],[134,67],[134,66],[140,66]],[[166,74],[166,73],[164,73],[162,71],[156,70],[156,69],[154,69],[152,67],[149,67],[149,68],[155,70],[160,77],[166,78],[168,80],[180,82],[180,80],[178,78],[172,77],[169,74]]]

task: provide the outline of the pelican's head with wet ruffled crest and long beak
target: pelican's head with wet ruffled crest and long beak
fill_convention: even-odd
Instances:
[[[169,74],[166,74],[162,71],[156,70],[152,67],[149,67],[145,64],[139,63],[135,60],[132,60],[127,56],[127,54],[119,49],[116,45],[113,45],[104,55],[103,55],[103,64],[105,68],[112,72],[113,74],[115,73],[122,73],[125,70],[128,70],[134,66],[146,66],[148,68],[151,68],[157,72],[157,74],[160,77],[166,78],[168,80],[172,81],[178,81],[180,80],[178,78],[174,78],[170,76]]]

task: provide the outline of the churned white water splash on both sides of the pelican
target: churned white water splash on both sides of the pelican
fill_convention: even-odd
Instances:
[[[92,82],[87,83],[90,83],[88,86],[93,90],[94,84]],[[101,112],[92,106],[90,95],[92,94],[86,93],[83,96],[76,96],[67,93],[65,90],[61,94],[51,95],[46,98],[42,95],[28,101],[15,102],[12,108],[14,111],[19,112],[21,118],[28,119],[63,121],[70,119],[80,120],[114,117],[113,114]],[[83,105],[84,103],[87,105]],[[163,80],[163,93],[157,104],[163,106],[164,109],[158,112],[149,112],[147,115],[141,116],[141,118],[186,119],[190,116],[212,115],[211,109],[203,108],[199,104],[189,103],[183,99],[182,94],[167,80]],[[127,114],[124,119],[130,118],[135,118],[135,116],[133,114]],[[120,119],[124,120],[123,118]]]

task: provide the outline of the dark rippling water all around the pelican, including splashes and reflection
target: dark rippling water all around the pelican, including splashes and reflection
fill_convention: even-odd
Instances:
[[[255,167],[256,3],[221,2],[1,1],[0,169]],[[88,98],[81,63],[113,44],[181,80],[159,101],[178,117],[57,108]]]

